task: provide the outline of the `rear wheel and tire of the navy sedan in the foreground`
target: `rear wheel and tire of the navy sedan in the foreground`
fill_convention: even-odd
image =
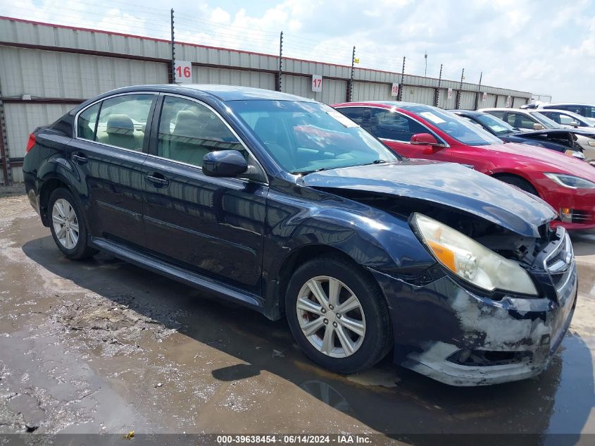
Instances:
[[[97,250],[87,242],[87,227],[80,206],[69,190],[60,187],[51,193],[48,219],[51,236],[68,259],[86,259],[96,254]]]

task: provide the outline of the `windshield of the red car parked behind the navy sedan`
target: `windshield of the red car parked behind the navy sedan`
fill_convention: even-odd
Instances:
[[[487,130],[477,127],[454,113],[435,107],[416,105],[403,106],[403,109],[413,111],[428,123],[442,130],[446,135],[469,146],[487,146],[502,144],[499,138],[491,135]]]

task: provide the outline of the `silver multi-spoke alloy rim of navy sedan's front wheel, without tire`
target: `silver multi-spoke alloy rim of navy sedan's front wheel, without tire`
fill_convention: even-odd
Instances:
[[[341,280],[319,275],[308,280],[296,301],[303,335],[319,352],[349,357],[362,345],[365,316],[358,297]]]

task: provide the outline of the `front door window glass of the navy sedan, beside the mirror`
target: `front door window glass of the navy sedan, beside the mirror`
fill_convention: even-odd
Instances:
[[[163,99],[158,156],[202,166],[210,151],[243,149],[223,120],[206,106],[179,97]]]

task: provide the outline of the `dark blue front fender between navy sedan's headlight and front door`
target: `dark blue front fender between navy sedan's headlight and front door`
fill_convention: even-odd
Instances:
[[[269,308],[283,293],[275,287],[284,264],[303,248],[329,247],[397,277],[420,275],[436,263],[404,219],[319,190],[308,188],[303,197],[271,190],[265,228],[263,294]]]

